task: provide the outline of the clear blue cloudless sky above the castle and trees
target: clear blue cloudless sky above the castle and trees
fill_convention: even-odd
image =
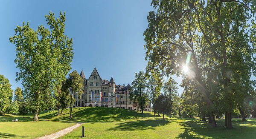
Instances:
[[[59,16],[66,12],[65,35],[73,38],[72,72],[84,70],[86,78],[96,67],[102,79],[127,85],[134,72],[145,71],[144,36],[147,15],[153,11],[151,0],[1,0],[0,1],[0,74],[9,79],[12,89],[22,88],[15,82],[15,45],[9,43],[14,28],[28,22],[32,29],[47,25],[49,11]],[[176,78],[181,82],[180,78]],[[183,91],[179,89],[179,94]]]

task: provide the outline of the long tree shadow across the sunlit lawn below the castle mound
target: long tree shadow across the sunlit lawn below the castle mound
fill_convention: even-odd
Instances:
[[[140,120],[140,121],[130,121],[130,122],[119,122],[116,123],[116,127],[110,128],[109,130],[121,130],[121,131],[134,131],[134,130],[148,130],[155,129],[158,126],[168,125],[171,122],[175,122],[175,119],[163,120],[163,119],[153,119],[153,120]]]

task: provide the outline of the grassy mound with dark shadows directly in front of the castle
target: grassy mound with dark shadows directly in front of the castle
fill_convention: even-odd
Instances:
[[[61,111],[60,111],[61,112]],[[121,122],[138,119],[154,119],[154,113],[141,112],[122,108],[102,108],[102,107],[80,107],[72,109],[72,119],[70,108],[64,109],[62,114],[57,116],[58,111],[40,113],[39,119],[50,119],[69,122]]]

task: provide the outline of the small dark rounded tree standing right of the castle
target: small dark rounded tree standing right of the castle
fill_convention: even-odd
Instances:
[[[161,94],[154,102],[153,108],[158,113],[162,113],[164,119],[164,114],[170,113],[172,111],[172,100],[166,94]]]

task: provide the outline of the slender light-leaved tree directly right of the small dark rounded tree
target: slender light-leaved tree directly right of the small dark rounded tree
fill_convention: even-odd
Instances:
[[[163,91],[164,93],[169,97],[170,101],[170,106],[171,106],[171,111],[172,111],[172,103],[177,99],[178,97],[178,87],[177,87],[177,82],[172,79],[172,77],[169,78],[168,82],[165,82],[163,85]],[[171,112],[170,111],[170,112]],[[167,113],[166,113],[167,114]],[[171,113],[170,113],[171,117]]]

